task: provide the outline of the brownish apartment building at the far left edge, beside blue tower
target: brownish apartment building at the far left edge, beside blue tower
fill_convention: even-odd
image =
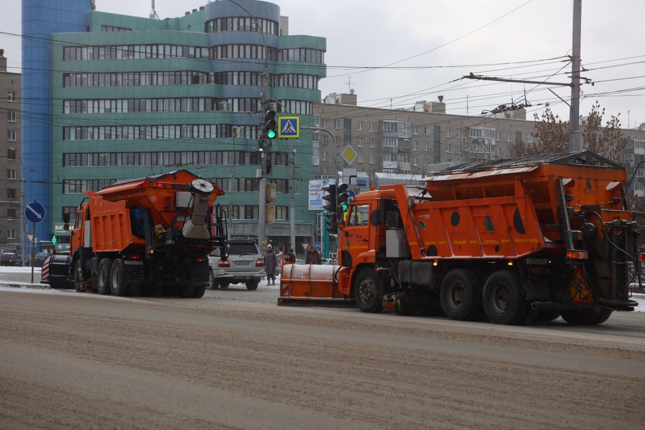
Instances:
[[[21,75],[7,71],[0,49],[0,251],[19,249],[21,224]]]

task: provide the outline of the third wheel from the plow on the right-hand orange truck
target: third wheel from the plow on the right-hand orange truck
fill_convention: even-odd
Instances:
[[[484,284],[482,305],[486,316],[495,324],[519,324],[528,309],[526,295],[519,275],[497,271]]]

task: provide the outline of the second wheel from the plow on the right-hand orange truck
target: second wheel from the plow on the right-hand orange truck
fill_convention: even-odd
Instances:
[[[448,318],[471,321],[482,315],[482,287],[468,269],[453,269],[444,276],[439,292],[441,309]]]

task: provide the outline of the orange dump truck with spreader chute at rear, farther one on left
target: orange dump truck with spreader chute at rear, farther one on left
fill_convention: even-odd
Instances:
[[[208,253],[226,238],[223,214],[213,206],[223,190],[178,170],[85,194],[70,230],[70,255],[46,261],[43,282],[68,280],[76,291],[115,296],[204,295]]]

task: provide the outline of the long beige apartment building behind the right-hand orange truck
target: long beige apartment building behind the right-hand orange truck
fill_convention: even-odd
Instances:
[[[423,175],[444,163],[515,157],[522,142],[533,142],[535,132],[535,121],[527,120],[524,109],[494,116],[446,114],[442,96],[401,110],[356,104],[357,96],[351,93],[330,94],[313,105],[316,126],[331,132],[315,133],[313,169],[320,178],[336,178],[344,167],[355,168],[359,190],[378,185],[382,175]],[[631,175],[645,157],[645,125],[623,132],[629,138],[626,166]],[[644,167],[640,165],[635,181],[641,195]]]

